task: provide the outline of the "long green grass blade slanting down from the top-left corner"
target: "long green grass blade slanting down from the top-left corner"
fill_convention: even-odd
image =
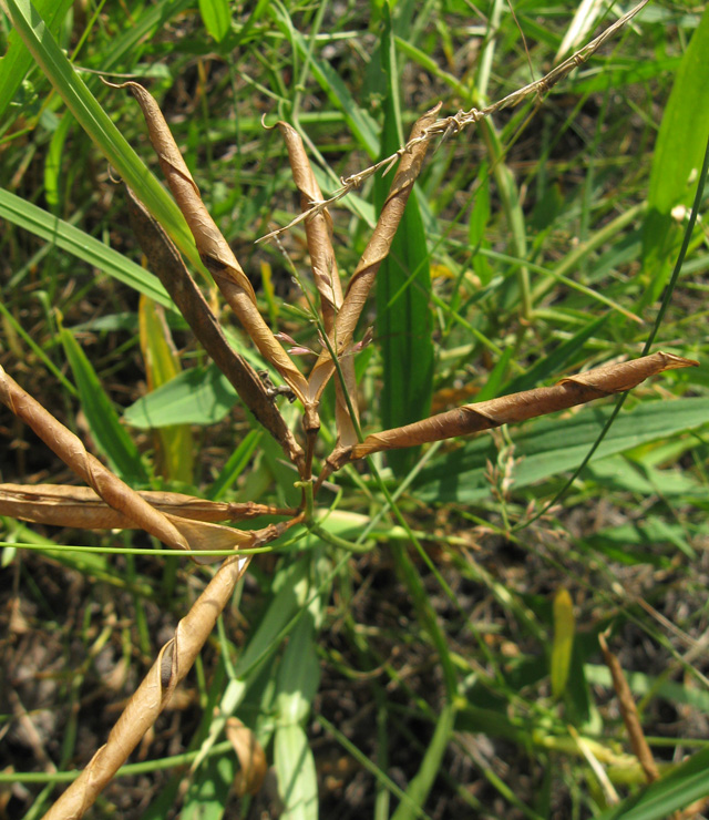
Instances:
[[[183,254],[192,263],[199,264],[192,234],[179,208],[74,71],[30,0],[6,0],[4,6],[22,41],[82,129]]]

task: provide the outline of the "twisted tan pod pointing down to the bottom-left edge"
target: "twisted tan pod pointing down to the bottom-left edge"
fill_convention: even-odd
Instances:
[[[187,615],[177,624],[175,636],[161,649],[111,730],[106,744],[44,814],[44,820],[79,820],[95,802],[102,789],[167,706],[177,684],[192,668],[248,564],[248,555],[235,555],[217,570]]]

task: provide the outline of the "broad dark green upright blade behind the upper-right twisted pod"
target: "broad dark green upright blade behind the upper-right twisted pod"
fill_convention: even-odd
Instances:
[[[399,73],[391,20],[384,4],[381,39],[386,100],[381,156],[393,154],[403,144]],[[390,178],[374,181],[377,209],[387,199]],[[433,316],[430,308],[431,269],[425,230],[418,203],[411,192],[391,253],[377,275],[377,336],[380,339],[384,376],[380,396],[382,426],[401,427],[431,412],[433,393]],[[419,450],[391,451],[387,460],[394,473],[404,475],[413,467]]]

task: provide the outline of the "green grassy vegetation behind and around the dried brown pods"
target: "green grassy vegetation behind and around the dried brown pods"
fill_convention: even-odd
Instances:
[[[436,102],[452,114],[504,96],[571,53],[575,23],[593,32],[620,11],[37,7],[155,166],[137,106],[96,72],[150,85],[264,314],[302,346],[317,346],[302,228],[254,244],[299,208],[261,119],[300,131],[331,192]],[[579,28],[576,44],[592,35]],[[436,146],[368,317],[374,342],[357,362],[367,430],[639,355],[702,162],[708,49],[702,6],[654,2],[543,99]],[[134,486],[291,501],[277,448],[181,318],[140,296],[166,304],[140,268],[105,158],[13,53],[0,63],[0,363]],[[354,268],[387,185],[333,208],[341,270]],[[378,459],[398,515],[367,471],[335,476],[327,525],[360,550],[309,536],[257,557],[90,816],[665,818],[708,795],[706,269],[700,219],[659,347],[701,365],[639,388],[561,499],[609,406]],[[284,412],[296,423],[296,407]],[[4,409],[0,435],[3,481],[71,481]],[[147,536],[1,521],[0,816],[32,818],[104,741],[205,575],[132,553]],[[662,775],[649,790],[602,660],[605,629]],[[238,762],[217,707],[274,763],[254,798],[232,788]]]

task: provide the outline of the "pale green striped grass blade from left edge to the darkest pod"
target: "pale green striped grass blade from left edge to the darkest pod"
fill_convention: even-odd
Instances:
[[[0,188],[0,218],[66,250],[117,281],[145,294],[158,305],[175,311],[175,305],[160,280],[131,259],[93,236],[9,191]]]

